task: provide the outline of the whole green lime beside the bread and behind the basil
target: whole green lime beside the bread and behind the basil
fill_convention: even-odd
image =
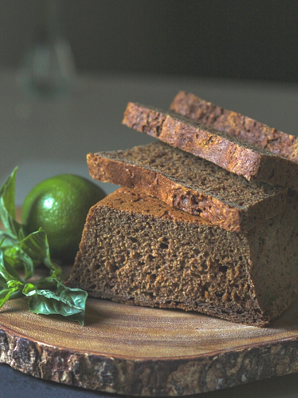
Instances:
[[[22,223],[27,233],[40,227],[47,233],[51,258],[74,262],[86,216],[91,206],[106,196],[91,181],[61,174],[39,183],[27,195]]]

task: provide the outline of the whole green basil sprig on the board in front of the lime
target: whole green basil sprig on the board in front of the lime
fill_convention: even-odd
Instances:
[[[12,298],[27,296],[29,311],[60,314],[84,324],[87,293],[64,286],[62,268],[50,257],[47,234],[43,228],[26,235],[15,217],[15,168],[0,188],[0,307]],[[46,278],[32,282],[36,266],[50,270]],[[19,274],[22,272],[22,276]]]

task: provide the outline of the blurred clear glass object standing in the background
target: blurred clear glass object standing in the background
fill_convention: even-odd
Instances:
[[[17,74],[17,83],[29,96],[56,96],[69,92],[75,67],[71,46],[63,35],[62,0],[43,0],[31,43]]]

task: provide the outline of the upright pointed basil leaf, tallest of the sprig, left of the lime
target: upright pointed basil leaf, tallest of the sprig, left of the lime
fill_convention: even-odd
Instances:
[[[18,237],[22,224],[15,220],[14,187],[17,168],[0,188],[0,219],[8,233]]]

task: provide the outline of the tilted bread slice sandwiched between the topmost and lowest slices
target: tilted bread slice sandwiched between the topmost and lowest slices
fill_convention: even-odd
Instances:
[[[123,123],[247,180],[298,190],[298,164],[179,115],[129,102]]]

